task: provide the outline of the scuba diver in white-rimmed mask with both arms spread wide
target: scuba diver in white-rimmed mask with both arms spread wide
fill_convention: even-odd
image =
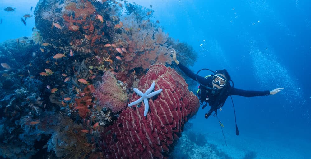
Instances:
[[[190,78],[197,81],[200,86],[199,90],[197,91],[197,95],[200,100],[200,104],[203,105],[205,102],[205,105],[203,105],[202,109],[204,109],[207,104],[211,106],[210,110],[205,114],[205,118],[208,118],[213,112],[215,114],[213,116],[217,116],[217,109],[221,110],[221,107],[224,105],[225,101],[227,100],[228,96],[231,95],[238,95],[238,96],[244,96],[244,97],[254,97],[254,96],[264,96],[264,95],[274,95],[281,91],[281,89],[284,88],[276,88],[272,91],[249,91],[249,90],[242,90],[234,88],[234,83],[231,80],[231,77],[227,70],[216,70],[216,72],[210,70],[213,72],[212,75],[202,77],[198,76],[197,74],[201,71],[199,70],[197,74],[194,74],[191,70],[189,70],[186,66],[181,64],[177,60],[177,55],[175,49],[173,49],[172,57],[177,66]],[[209,69],[202,69],[202,70],[209,70]],[[232,86],[230,85],[230,82],[232,83]],[[232,100],[232,97],[231,97]],[[232,100],[233,103],[233,100]],[[234,105],[233,105],[234,108]],[[234,116],[235,116],[235,110],[234,110]],[[218,118],[218,117],[217,117]],[[235,125],[236,125],[236,118],[235,118]],[[236,134],[239,135],[239,130],[236,125]]]

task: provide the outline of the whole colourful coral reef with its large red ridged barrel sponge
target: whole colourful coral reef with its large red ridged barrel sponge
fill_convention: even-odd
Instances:
[[[39,0],[32,37],[0,44],[1,157],[169,156],[198,100],[164,66],[178,46],[150,20],[154,11],[123,2]],[[139,98],[133,87],[152,81],[164,92],[145,119],[126,105]]]

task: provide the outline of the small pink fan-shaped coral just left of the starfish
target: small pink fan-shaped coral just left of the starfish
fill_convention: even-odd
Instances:
[[[97,98],[100,107],[106,107],[112,112],[119,112],[126,107],[127,95],[118,85],[118,81],[110,71],[104,71],[103,82],[97,82],[94,96]]]

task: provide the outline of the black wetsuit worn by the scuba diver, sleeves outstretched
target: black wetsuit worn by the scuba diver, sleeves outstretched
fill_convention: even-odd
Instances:
[[[183,66],[183,64],[181,64],[179,62],[179,64],[177,65],[187,76],[189,76],[190,78],[192,78],[193,80],[196,80],[196,74],[193,73],[191,70],[189,70],[186,66]],[[212,77],[209,78],[205,78],[202,76],[197,76],[197,80],[205,85],[211,85],[212,84]],[[247,91],[247,90],[242,90],[242,89],[237,89],[232,87],[231,85],[228,86],[227,90],[226,90],[226,95],[227,97],[230,95],[238,95],[238,96],[244,96],[244,97],[254,97],[254,96],[264,96],[264,95],[269,95],[270,91],[266,90],[266,91]],[[217,98],[217,95],[209,95],[208,100],[206,100],[207,103],[209,103],[209,105],[213,105],[215,100]]]

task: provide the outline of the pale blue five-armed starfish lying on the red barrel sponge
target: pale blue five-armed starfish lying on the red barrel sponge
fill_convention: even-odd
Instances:
[[[145,111],[144,111],[144,116],[147,116],[148,110],[149,110],[149,103],[148,103],[148,98],[151,98],[159,93],[162,92],[162,89],[159,89],[157,91],[151,92],[155,88],[155,82],[152,82],[151,86],[145,93],[142,93],[142,91],[138,90],[137,88],[134,88],[133,90],[140,96],[138,100],[128,104],[128,107],[132,107],[133,105],[139,104],[140,102],[144,101],[145,104]]]

